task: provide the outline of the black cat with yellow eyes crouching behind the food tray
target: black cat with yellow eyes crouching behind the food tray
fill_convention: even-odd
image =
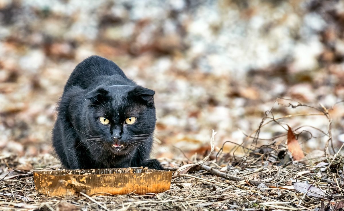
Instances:
[[[154,94],[103,57],[79,63],[64,87],[53,129],[53,147],[65,168],[162,169],[148,159]]]

